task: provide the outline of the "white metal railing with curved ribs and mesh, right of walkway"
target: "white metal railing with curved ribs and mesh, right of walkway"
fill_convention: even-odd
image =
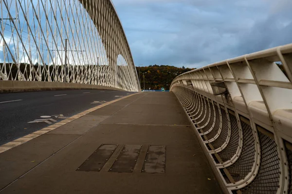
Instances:
[[[170,91],[230,193],[292,192],[292,44],[183,73]]]

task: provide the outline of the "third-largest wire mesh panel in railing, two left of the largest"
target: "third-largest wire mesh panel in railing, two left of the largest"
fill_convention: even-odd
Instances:
[[[237,125],[236,116],[230,113],[229,117],[231,122],[230,142],[225,149],[218,153],[222,162],[230,160],[236,154],[237,148],[239,146],[239,128]]]

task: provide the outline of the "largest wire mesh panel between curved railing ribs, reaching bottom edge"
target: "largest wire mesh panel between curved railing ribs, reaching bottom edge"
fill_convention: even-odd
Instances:
[[[275,194],[279,188],[280,163],[277,145],[271,137],[258,131],[261,147],[261,165],[255,180],[246,188],[243,194]]]

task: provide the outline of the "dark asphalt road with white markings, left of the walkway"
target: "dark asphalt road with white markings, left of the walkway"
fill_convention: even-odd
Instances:
[[[58,90],[0,94],[0,145],[104,103],[94,101],[108,102],[129,94],[133,93]]]

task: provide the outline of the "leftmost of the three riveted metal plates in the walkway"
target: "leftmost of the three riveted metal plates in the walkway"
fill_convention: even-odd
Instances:
[[[118,145],[103,144],[99,146],[93,154],[77,169],[77,171],[97,171],[99,172]]]

